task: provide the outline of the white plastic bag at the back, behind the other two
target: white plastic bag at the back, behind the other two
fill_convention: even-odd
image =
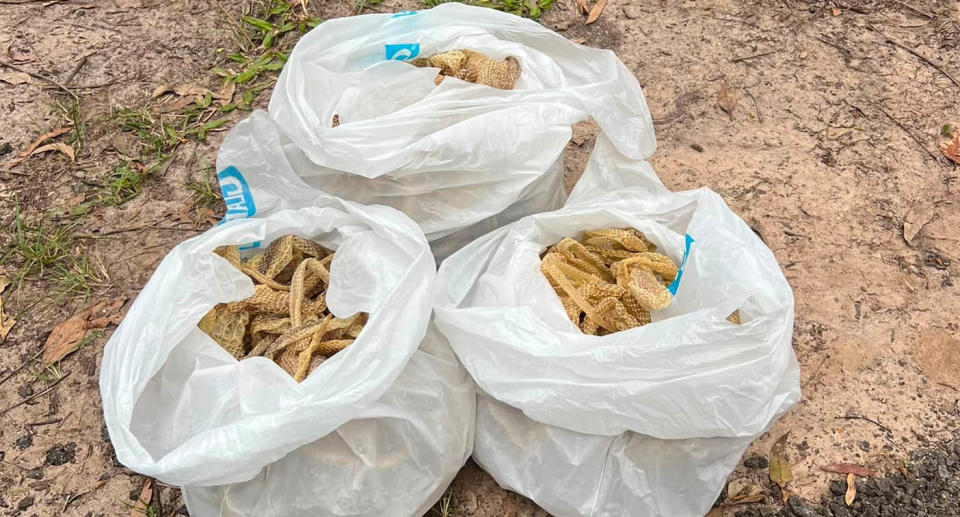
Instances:
[[[398,62],[464,48],[516,58],[516,88],[437,86],[437,69]],[[633,159],[655,148],[640,85],[612,52],[458,3],[321,24],[291,53],[269,112],[307,184],[406,213],[438,260],[562,205],[571,124],[593,117]]]

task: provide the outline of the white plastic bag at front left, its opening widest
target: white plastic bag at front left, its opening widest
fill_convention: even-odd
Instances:
[[[175,247],[107,343],[100,389],[117,457],[183,486],[191,515],[419,517],[469,457],[475,415],[472,382],[427,330],[435,266],[423,232],[392,208],[259,165],[220,172],[239,220]],[[289,233],[336,250],[330,310],[369,313],[356,341],[299,384],[197,328],[215,304],[253,294],[213,249]]]

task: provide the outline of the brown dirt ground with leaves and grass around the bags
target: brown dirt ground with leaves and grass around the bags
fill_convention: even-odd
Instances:
[[[307,5],[320,18],[360,6]],[[0,163],[62,127],[72,130],[45,143],[77,151],[75,162],[54,149],[0,165],[0,275],[14,280],[2,299],[16,320],[0,345],[2,515],[130,513],[144,479],[115,462],[97,386],[113,327],[53,366],[37,353],[81,308],[129,304],[174,245],[222,214],[205,185],[222,131],[246,112],[190,115],[166,143],[146,138],[135,114],[181,121],[175,94],[152,98],[162,84],[222,96],[215,69],[231,66],[238,48],[253,52],[238,37],[245,6],[0,0],[0,62],[28,73],[0,66]],[[842,515],[833,508],[845,477],[822,466],[855,463],[906,479],[929,456],[918,450],[954,447],[934,472],[943,466],[943,482],[955,484],[960,460],[948,444],[960,433],[960,185],[938,145],[944,125],[960,126],[960,6],[610,0],[585,25],[572,0],[558,0],[541,22],[616,52],[645,88],[664,183],[719,192],[794,288],[803,400],[753,444],[711,515]],[[295,37],[283,35],[284,43]],[[265,106],[272,77],[214,97],[214,108]],[[589,123],[576,128],[569,184],[595,134]],[[794,499],[784,507],[764,464],[788,431]],[[763,497],[744,503],[737,493]],[[449,494],[453,515],[546,515],[472,463]],[[185,513],[175,488],[155,497],[161,515]],[[863,497],[866,505],[871,496]],[[821,498],[834,506],[817,506]],[[870,515],[863,508],[856,514]]]

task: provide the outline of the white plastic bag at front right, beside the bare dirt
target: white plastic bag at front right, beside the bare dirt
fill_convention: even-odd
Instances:
[[[773,254],[712,191],[661,189],[601,137],[564,208],[476,240],[438,274],[437,326],[486,394],[474,458],[554,515],[701,516],[799,399],[793,293]],[[540,253],[609,227],[641,230],[682,272],[653,323],[588,336]]]

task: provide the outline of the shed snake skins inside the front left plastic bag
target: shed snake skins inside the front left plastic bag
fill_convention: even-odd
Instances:
[[[214,250],[254,283],[254,295],[221,303],[197,324],[237,359],[273,360],[297,382],[360,334],[365,313],[334,317],[327,310],[333,252],[285,235],[260,254],[240,257],[237,246]]]

